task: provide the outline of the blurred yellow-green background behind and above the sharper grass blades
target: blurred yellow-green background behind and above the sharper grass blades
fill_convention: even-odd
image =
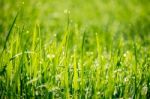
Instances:
[[[17,23],[29,30],[35,24],[40,24],[44,35],[64,30],[67,24],[64,10],[69,10],[72,24],[78,24],[80,29],[91,27],[86,29],[91,32],[112,32],[112,35],[117,32],[127,34],[132,30],[136,32],[130,35],[137,33],[149,37],[149,5],[149,0],[1,0],[1,42],[21,8]]]

